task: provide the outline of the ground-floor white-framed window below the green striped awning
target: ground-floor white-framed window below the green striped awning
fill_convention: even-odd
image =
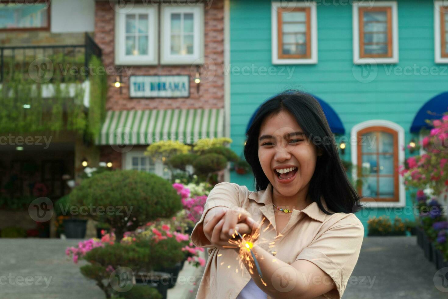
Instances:
[[[160,160],[154,161],[151,157],[145,156],[144,149],[132,149],[123,153],[123,169],[134,169],[155,173],[164,179],[171,179],[171,171]]]

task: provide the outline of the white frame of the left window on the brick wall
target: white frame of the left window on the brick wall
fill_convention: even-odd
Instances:
[[[126,14],[144,13],[148,15],[148,55],[126,55]],[[115,64],[116,65],[157,65],[158,64],[158,5],[134,5],[131,9],[115,5]]]

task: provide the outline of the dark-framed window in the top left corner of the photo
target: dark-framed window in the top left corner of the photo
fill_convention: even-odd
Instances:
[[[50,2],[45,0],[0,3],[0,31],[50,30]]]

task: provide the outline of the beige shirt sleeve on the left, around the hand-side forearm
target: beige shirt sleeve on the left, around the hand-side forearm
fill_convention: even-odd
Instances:
[[[203,222],[208,211],[215,207],[234,208],[241,207],[239,199],[240,189],[235,183],[221,182],[216,184],[210,191],[206,203],[204,205],[204,212],[201,219],[194,226],[191,232],[191,242],[197,247],[214,247],[204,234]]]

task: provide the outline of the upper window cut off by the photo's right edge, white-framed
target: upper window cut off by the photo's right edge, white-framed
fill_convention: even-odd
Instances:
[[[448,63],[448,1],[434,1],[435,63]]]

